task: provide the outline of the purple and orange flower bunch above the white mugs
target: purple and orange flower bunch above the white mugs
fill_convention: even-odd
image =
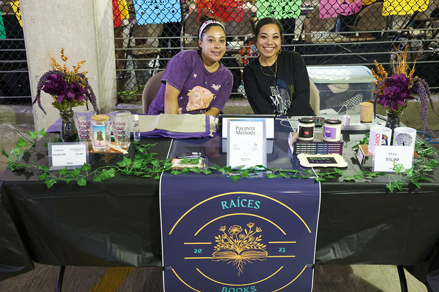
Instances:
[[[374,81],[374,113],[376,114],[377,103],[386,108],[388,112],[400,113],[407,107],[409,100],[416,99],[411,96],[413,92],[416,92],[421,103],[422,132],[425,133],[427,129],[431,132],[427,124],[428,103],[430,103],[431,109],[438,117],[439,113],[436,111],[434,102],[431,99],[431,92],[427,82],[417,76],[414,77],[415,64],[418,57],[415,58],[413,67],[410,68],[407,64],[408,46],[405,47],[404,51],[396,50],[398,53],[395,54],[394,73],[390,77],[382,65],[379,65],[377,60],[374,60],[377,70],[375,72],[372,69],[372,74],[376,79]]]

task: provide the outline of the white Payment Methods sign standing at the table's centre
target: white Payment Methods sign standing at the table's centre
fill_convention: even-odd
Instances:
[[[227,166],[267,166],[265,120],[230,119],[227,133]]]

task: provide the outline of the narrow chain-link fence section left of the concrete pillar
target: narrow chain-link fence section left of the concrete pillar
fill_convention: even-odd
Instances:
[[[19,1],[0,1],[0,104],[30,103]]]

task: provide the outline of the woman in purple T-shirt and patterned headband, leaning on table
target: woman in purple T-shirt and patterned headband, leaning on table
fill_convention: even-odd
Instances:
[[[219,115],[232,91],[232,73],[220,63],[225,53],[225,29],[218,18],[200,16],[201,50],[172,57],[163,83],[148,113],[204,113]]]

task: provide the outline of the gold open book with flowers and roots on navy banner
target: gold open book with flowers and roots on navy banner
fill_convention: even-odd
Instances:
[[[244,265],[255,260],[265,260],[268,257],[265,249],[267,246],[260,242],[262,235],[256,236],[257,233],[262,232],[262,229],[256,227],[252,230],[254,226],[255,223],[249,222],[248,230],[245,228],[244,232],[239,225],[230,226],[227,232],[226,226],[221,226],[220,231],[223,234],[215,237],[217,245],[212,260],[232,264],[238,269],[238,276],[243,273]]]

